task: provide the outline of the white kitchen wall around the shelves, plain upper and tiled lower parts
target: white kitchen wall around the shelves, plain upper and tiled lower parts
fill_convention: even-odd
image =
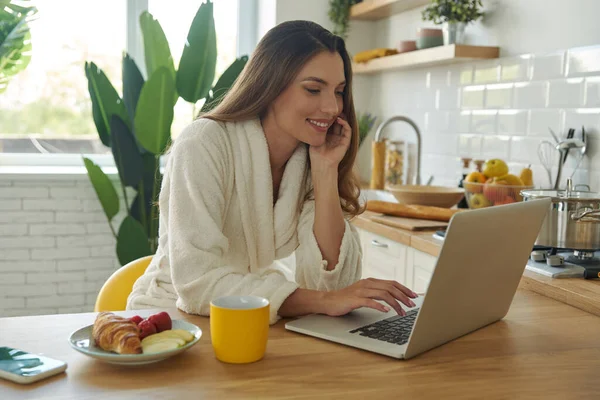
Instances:
[[[501,59],[384,72],[366,78],[369,89],[358,89],[355,97],[382,118],[401,114],[417,122],[424,142],[423,179],[434,175],[436,184],[455,185],[460,156],[497,156],[512,163],[513,172],[533,164],[538,183],[547,184],[537,145],[549,138],[548,126],[563,132],[584,124],[598,138],[600,51],[577,48],[600,44],[596,21],[600,1],[484,0],[484,5],[490,13],[468,27],[467,43],[500,46]],[[421,20],[421,9],[370,24],[374,47],[395,47],[400,40],[414,39],[418,27],[433,26]],[[511,68],[517,75],[508,77]],[[487,79],[490,73],[493,77]],[[461,74],[471,74],[471,78],[461,82]],[[494,86],[502,83],[509,86],[505,90]],[[436,100],[440,96],[441,105]],[[475,104],[474,96],[478,97]],[[388,129],[392,136],[413,141],[405,124]],[[370,177],[370,146],[370,141],[365,142],[359,152],[363,180]],[[600,190],[600,177],[594,172],[597,148],[592,141],[575,177],[576,183]]]

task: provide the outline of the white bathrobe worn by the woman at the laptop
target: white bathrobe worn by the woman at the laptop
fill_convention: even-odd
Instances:
[[[345,221],[338,264],[327,271],[313,233],[307,147],[289,159],[273,206],[267,141],[259,119],[199,119],[177,138],[159,197],[159,245],[127,309],[173,307],[209,315],[210,301],[262,296],[275,323],[298,287],[330,291],[360,279],[362,251]],[[308,179],[305,180],[305,173]],[[295,251],[295,282],[273,264]]]

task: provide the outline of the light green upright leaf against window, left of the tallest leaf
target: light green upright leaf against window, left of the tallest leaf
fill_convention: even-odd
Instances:
[[[140,27],[144,40],[144,58],[146,61],[146,73],[148,78],[159,69],[166,67],[175,81],[175,66],[173,65],[173,56],[165,32],[160,26],[160,22],[154,18],[148,11],[140,15]],[[173,94],[173,104],[177,102],[179,94]]]

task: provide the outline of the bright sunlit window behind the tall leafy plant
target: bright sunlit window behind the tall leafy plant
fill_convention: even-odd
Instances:
[[[215,79],[237,56],[239,1],[213,0],[218,54]],[[138,33],[137,37],[132,38],[128,34],[139,31],[139,14],[148,9],[165,31],[177,68],[190,24],[203,2],[35,2],[39,12],[31,24],[31,63],[0,94],[0,164],[2,153],[28,153],[28,160],[33,160],[34,155],[41,153],[57,158],[58,153],[70,153],[74,161],[67,164],[77,165],[81,163],[79,155],[82,153],[109,154],[110,149],[98,139],[91,116],[85,61],[96,63],[107,74],[117,92],[121,93],[122,52],[129,47],[134,59],[143,59],[143,53],[138,50],[142,49],[143,52],[143,44],[139,42],[141,35]],[[131,29],[132,26],[135,29]],[[246,22],[245,26],[253,29],[255,25]],[[138,54],[135,54],[136,51]],[[139,63],[138,66],[143,69]],[[194,108],[179,99],[171,129],[173,137],[193,120],[200,106],[201,103]],[[6,154],[5,157],[14,161],[17,154]],[[48,157],[43,158],[47,160]],[[23,159],[20,156],[18,158]]]

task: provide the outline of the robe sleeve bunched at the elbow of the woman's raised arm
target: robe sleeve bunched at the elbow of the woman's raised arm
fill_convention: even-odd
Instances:
[[[345,230],[340,245],[337,265],[327,270],[327,260],[323,259],[313,232],[315,201],[304,202],[298,222],[296,249],[296,282],[302,288],[314,290],[338,290],[360,280],[362,275],[362,247],[356,228],[344,220]]]

